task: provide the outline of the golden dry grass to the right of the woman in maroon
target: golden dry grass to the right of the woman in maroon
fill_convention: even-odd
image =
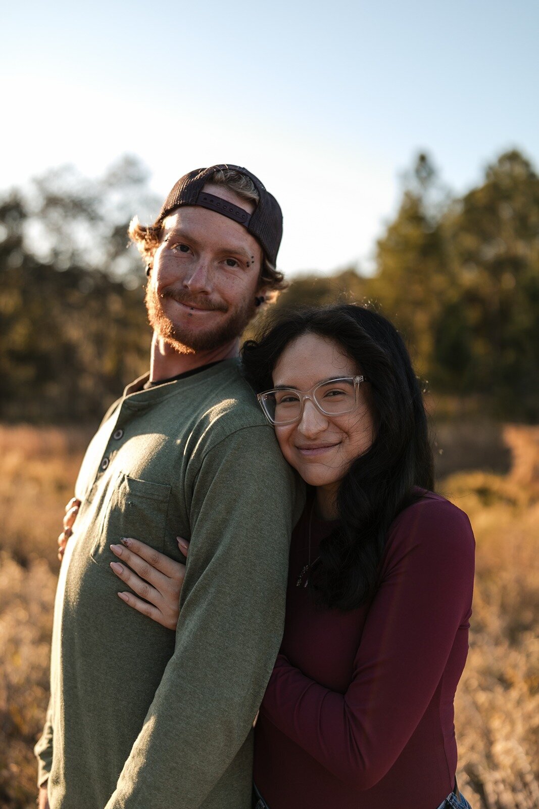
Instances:
[[[477,541],[470,654],[457,690],[459,786],[474,807],[539,807],[539,501],[483,472],[444,488]]]

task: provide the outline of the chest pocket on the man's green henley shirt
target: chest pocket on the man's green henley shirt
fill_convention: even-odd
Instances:
[[[92,559],[106,567],[117,561],[109,545],[118,544],[124,536],[133,536],[162,553],[171,487],[139,481],[120,472],[111,482],[110,491],[96,523]]]

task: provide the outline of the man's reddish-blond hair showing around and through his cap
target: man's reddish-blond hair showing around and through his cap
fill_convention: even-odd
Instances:
[[[247,202],[258,203],[260,198],[251,177],[236,172],[231,168],[217,169],[212,176],[208,177],[208,183],[224,185],[225,188],[234,191],[235,194],[238,194],[238,197]],[[151,265],[154,259],[154,253],[161,244],[162,231],[162,222],[154,222],[153,225],[141,225],[138,217],[135,216],[129,223],[129,239],[137,245],[138,252],[140,252],[146,264]],[[260,272],[260,286],[265,286],[267,290],[271,290],[271,294],[266,296],[266,300],[270,303],[273,303],[279,293],[288,287],[288,282],[284,280],[283,273],[267,260],[265,253],[263,253]]]

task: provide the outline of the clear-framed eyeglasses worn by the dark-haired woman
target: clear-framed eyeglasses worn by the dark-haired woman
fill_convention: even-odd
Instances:
[[[305,399],[324,416],[343,416],[352,413],[357,404],[357,391],[364,376],[338,376],[318,382],[309,391],[296,388],[272,388],[256,397],[271,424],[280,426],[300,421]]]

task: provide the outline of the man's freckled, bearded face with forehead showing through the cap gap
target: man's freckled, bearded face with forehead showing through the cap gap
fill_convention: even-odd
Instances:
[[[221,185],[204,191],[252,213]],[[146,286],[149,324],[182,354],[217,349],[238,337],[255,312],[262,248],[238,222],[187,205],[163,222]]]

